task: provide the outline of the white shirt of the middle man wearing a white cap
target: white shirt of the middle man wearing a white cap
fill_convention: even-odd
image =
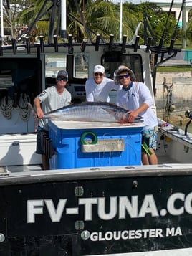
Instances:
[[[110,102],[110,91],[121,90],[121,87],[121,85],[115,85],[115,82],[107,77],[103,77],[100,84],[97,84],[93,78],[90,78],[85,83],[86,100]]]

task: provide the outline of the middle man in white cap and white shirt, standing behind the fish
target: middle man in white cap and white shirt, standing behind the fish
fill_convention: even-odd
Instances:
[[[109,93],[111,90],[121,90],[121,86],[105,77],[105,67],[96,65],[93,70],[93,77],[85,83],[86,100],[95,102],[110,102]]]

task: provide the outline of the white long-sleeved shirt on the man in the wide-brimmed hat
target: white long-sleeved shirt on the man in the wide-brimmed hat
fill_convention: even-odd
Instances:
[[[150,94],[150,90],[143,82],[133,82],[133,86],[130,90],[120,90],[117,93],[117,105],[127,110],[136,110],[146,103],[149,108],[140,115],[143,117],[145,124],[144,129],[153,128],[158,125],[158,119],[155,112],[151,108],[153,105],[153,98]]]

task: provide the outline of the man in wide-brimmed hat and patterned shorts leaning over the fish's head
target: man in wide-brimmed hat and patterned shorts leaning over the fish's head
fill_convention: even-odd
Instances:
[[[143,144],[145,143],[150,148],[150,151],[148,153],[145,150],[142,151],[142,162],[145,165],[156,165],[158,164],[155,155],[158,119],[151,108],[153,98],[150,90],[143,82],[137,82],[133,71],[126,66],[120,66],[115,70],[115,75],[115,83],[123,85],[122,90],[117,94],[117,105],[127,109],[130,113],[128,122],[132,122],[138,115],[143,117],[145,127],[142,132],[142,140]]]

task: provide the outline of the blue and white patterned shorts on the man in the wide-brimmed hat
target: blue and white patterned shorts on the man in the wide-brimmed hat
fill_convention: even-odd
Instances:
[[[157,131],[156,128],[150,128],[142,131],[142,143],[146,143],[149,148],[157,149]],[[143,151],[143,148],[142,148]]]

